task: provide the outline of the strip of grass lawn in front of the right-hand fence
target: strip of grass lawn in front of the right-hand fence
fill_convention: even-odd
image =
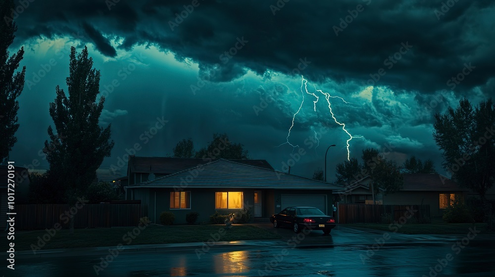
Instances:
[[[363,223],[363,224],[342,224],[344,227],[361,227],[369,228],[381,231],[395,231],[396,228],[392,226],[389,228],[390,224],[379,224],[379,223]],[[476,223],[476,230],[482,233],[487,231],[486,223]],[[398,233],[405,234],[466,234],[469,232],[469,228],[472,228],[472,223],[446,223],[441,220],[432,220],[431,224],[408,224],[407,222],[398,227]]]

